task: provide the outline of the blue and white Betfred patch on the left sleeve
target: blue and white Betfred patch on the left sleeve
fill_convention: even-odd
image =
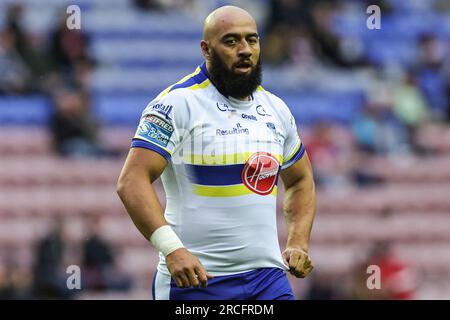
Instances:
[[[141,120],[137,135],[162,147],[167,147],[172,133],[173,126],[166,120],[155,115],[147,115]]]

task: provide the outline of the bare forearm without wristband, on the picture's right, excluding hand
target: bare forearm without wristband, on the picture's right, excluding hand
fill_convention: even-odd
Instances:
[[[286,190],[284,216],[288,227],[287,247],[308,251],[311,229],[316,212],[314,180],[303,177]]]

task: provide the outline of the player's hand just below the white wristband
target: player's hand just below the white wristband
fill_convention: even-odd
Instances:
[[[200,285],[206,288],[208,279],[213,278],[200,260],[186,248],[177,249],[166,256],[167,269],[179,288],[189,288]]]

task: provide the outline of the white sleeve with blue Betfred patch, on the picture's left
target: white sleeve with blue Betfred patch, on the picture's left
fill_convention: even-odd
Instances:
[[[145,148],[170,160],[179,146],[186,102],[179,95],[158,96],[142,112],[131,147]]]

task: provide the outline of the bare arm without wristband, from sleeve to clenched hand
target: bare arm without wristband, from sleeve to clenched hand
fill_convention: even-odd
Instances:
[[[283,258],[291,273],[305,277],[313,265],[308,256],[309,239],[316,212],[316,193],[311,163],[302,159],[281,172],[285,187],[284,215],[288,239]]]

